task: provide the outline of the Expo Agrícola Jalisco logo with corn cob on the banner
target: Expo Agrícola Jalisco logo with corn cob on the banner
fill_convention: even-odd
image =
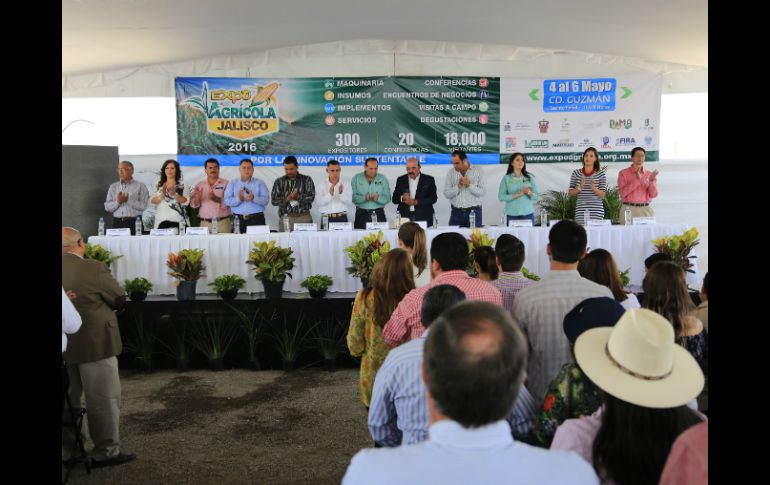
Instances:
[[[209,89],[204,82],[199,96],[184,105],[206,116],[209,133],[236,140],[249,140],[276,133],[279,129],[278,90],[280,84],[254,84],[241,89]]]

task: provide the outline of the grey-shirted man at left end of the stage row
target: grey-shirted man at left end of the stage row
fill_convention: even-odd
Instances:
[[[136,218],[142,215],[150,200],[147,186],[134,180],[134,165],[131,162],[118,164],[120,180],[110,185],[104,209],[112,214],[112,228],[127,227],[134,235]]]

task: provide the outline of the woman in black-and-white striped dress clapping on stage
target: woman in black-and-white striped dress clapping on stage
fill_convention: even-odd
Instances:
[[[583,168],[572,172],[569,179],[569,195],[577,196],[575,222],[583,224],[584,212],[589,219],[604,219],[604,193],[607,190],[607,174],[601,170],[599,152],[588,147],[583,152]]]

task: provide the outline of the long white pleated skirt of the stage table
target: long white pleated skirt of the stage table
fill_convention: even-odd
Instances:
[[[654,252],[651,241],[662,236],[681,234],[687,229],[684,225],[651,224],[639,226],[594,226],[589,227],[588,247],[604,248],[612,253],[618,268],[622,271],[631,268],[631,284],[641,285],[644,278],[644,259]],[[459,232],[466,238],[470,229],[428,229],[428,247],[430,241],[442,232]],[[506,228],[491,226],[483,228],[491,238],[501,234],[513,234],[522,240],[526,248],[524,266],[530,271],[544,276],[549,271],[546,244],[548,232],[544,228]],[[100,244],[113,255],[123,255],[112,264],[112,274],[123,284],[126,279],[145,277],[154,286],[152,294],[170,295],[176,293],[174,278],[168,275],[166,260],[169,252],[178,252],[185,248],[204,249],[205,275],[198,281],[198,293],[213,293],[208,286],[215,278],[226,274],[237,274],[246,280],[244,292],[264,291],[262,283],[254,278],[254,271],[246,264],[249,249],[255,241],[275,240],[283,247],[294,250],[294,269],[292,278],[287,278],[285,291],[305,292],[300,283],[313,274],[325,274],[334,279],[329,291],[355,292],[361,289],[359,278],[350,276],[345,270],[350,260],[344,248],[355,244],[369,231],[332,231],[332,232],[294,232],[270,233],[260,235],[217,234],[213,236],[113,236],[88,239],[91,244]],[[383,231],[391,247],[398,247],[397,231]],[[688,274],[687,282],[693,288],[700,288],[697,259],[693,260],[694,274]]]

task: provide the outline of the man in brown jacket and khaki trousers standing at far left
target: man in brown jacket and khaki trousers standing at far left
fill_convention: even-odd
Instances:
[[[72,301],[83,324],[69,337],[64,360],[70,380],[69,395],[79,406],[83,394],[88,410],[88,431],[94,442],[93,467],[120,465],[136,458],[120,451],[120,376],[117,355],[123,348],[115,309],[126,301],[126,292],[107,269],[84,259],[85,242],[76,229],[62,227],[62,287],[74,291]],[[62,436],[62,459],[72,458],[74,434]]]

